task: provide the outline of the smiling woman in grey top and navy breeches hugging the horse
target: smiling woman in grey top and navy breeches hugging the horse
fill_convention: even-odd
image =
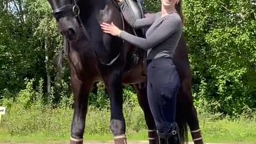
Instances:
[[[176,97],[180,86],[178,71],[172,57],[182,34],[182,20],[175,9],[179,0],[161,0],[162,11],[152,17],[136,20],[125,0],[119,6],[125,20],[134,28],[150,26],[146,38],[137,37],[118,29],[114,23],[102,23],[107,34],[118,36],[131,44],[147,50],[147,93],[151,112],[156,123],[159,142],[179,143],[175,123]]]

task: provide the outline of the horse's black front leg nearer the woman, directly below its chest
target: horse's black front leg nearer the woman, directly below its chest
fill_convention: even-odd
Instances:
[[[123,94],[121,71],[113,70],[107,76],[104,76],[104,82],[110,98],[110,129],[114,135],[116,144],[126,143],[125,120],[123,115]]]

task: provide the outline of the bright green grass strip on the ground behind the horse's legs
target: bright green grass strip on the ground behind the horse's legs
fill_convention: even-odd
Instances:
[[[140,107],[124,105],[124,114],[128,140],[147,140],[146,124]],[[69,141],[72,115],[71,109],[22,110],[18,106],[13,107],[10,113],[2,118],[0,142]],[[109,110],[90,107],[84,139],[113,140],[109,130],[109,119]],[[205,142],[256,143],[255,117],[231,120],[217,118],[214,115],[199,115],[199,122]]]

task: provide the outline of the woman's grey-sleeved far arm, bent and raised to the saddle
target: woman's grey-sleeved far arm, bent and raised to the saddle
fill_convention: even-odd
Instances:
[[[148,18],[135,19],[133,13],[131,12],[129,6],[123,0],[118,4],[121,8],[121,11],[124,15],[124,19],[131,25],[133,28],[141,28],[145,26],[150,26],[155,21],[156,14],[151,14]]]

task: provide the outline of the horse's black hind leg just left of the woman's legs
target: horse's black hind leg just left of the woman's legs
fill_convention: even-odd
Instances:
[[[140,89],[139,84],[134,84],[135,90],[137,92],[138,102],[143,110],[145,121],[148,126],[148,140],[149,144],[157,144],[158,137],[156,133],[156,127],[153,115],[149,108],[148,98],[147,98],[147,87]]]

